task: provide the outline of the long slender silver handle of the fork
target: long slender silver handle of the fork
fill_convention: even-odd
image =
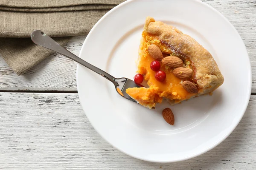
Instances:
[[[79,64],[83,65],[84,67],[89,68],[90,70],[101,75],[102,77],[105,77],[109,81],[113,82],[114,85],[116,85],[115,77],[113,77],[110,74],[108,74],[107,72],[95,67],[94,65],[91,65],[90,63],[84,61],[83,59],[77,57],[75,54],[71,53],[70,51],[63,48],[61,45],[59,45],[55,40],[53,40],[47,34],[44,34],[44,32],[42,32],[40,30],[33,31],[31,33],[31,40],[37,45],[41,45],[44,48],[48,48],[52,51],[55,51],[59,54],[66,56],[70,59],[73,59],[74,61],[78,62]]]

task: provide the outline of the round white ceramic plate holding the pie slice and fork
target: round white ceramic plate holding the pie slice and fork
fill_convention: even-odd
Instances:
[[[199,0],[128,0],[93,27],[80,57],[114,77],[133,79],[147,16],[177,27],[203,45],[217,62],[224,84],[212,96],[174,106],[163,102],[150,110],[122,98],[111,82],[78,65],[81,105],[95,130],[123,153],[154,162],[190,159],[221,143],[241,120],[251,91],[247,50],[231,23]],[[173,126],[162,117],[167,107],[175,115]]]

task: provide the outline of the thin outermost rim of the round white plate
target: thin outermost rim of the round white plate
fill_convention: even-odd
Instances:
[[[80,50],[80,52],[79,52],[79,57],[81,57],[81,51],[83,51],[84,44],[87,42],[88,37],[90,37],[90,35],[92,34],[93,30],[99,25],[99,23],[101,23],[102,20],[105,19],[105,17],[107,17],[109,14],[111,14],[111,13],[112,13],[113,11],[115,11],[117,8],[119,8],[119,7],[121,7],[121,6],[125,6],[125,5],[128,4],[128,3],[133,3],[134,1],[136,1],[136,0],[127,0],[127,1],[125,1],[125,2],[123,2],[123,3],[120,3],[119,5],[115,6],[115,7],[112,8],[110,11],[108,11],[103,17],[101,17],[101,18],[97,21],[97,23],[93,26],[93,28],[90,30],[89,34],[88,34],[87,37],[85,38],[85,40],[84,40],[84,42],[83,42],[83,45],[82,45],[82,47],[81,47],[81,50]],[[249,101],[250,101],[250,96],[251,96],[251,90],[252,90],[252,89],[251,89],[251,88],[252,88],[252,69],[251,69],[250,57],[249,57],[249,55],[248,55],[248,51],[247,51],[247,48],[246,48],[246,46],[245,46],[245,44],[244,44],[244,41],[242,40],[242,38],[241,38],[239,32],[238,32],[238,31],[236,30],[236,28],[232,25],[232,23],[230,23],[230,21],[229,21],[223,14],[221,14],[218,10],[216,10],[216,9],[213,8],[212,6],[208,5],[207,3],[202,2],[202,1],[200,1],[200,0],[192,0],[192,1],[194,1],[195,3],[201,3],[201,5],[204,5],[204,6],[206,6],[207,8],[212,9],[216,14],[218,14],[220,17],[222,17],[222,18],[230,25],[230,27],[233,28],[233,30],[234,30],[235,33],[239,36],[239,39],[240,39],[241,42],[243,43],[243,46],[241,46],[241,48],[244,48],[244,50],[246,51],[246,55],[247,55],[247,57],[244,57],[244,58],[247,59],[247,64],[248,64],[248,81],[249,81],[248,87],[247,87],[247,88],[248,88],[248,91],[247,91],[247,101],[244,103],[244,104],[246,104],[246,107],[244,107],[243,112],[242,112],[242,114],[240,115],[240,117],[239,117],[239,119],[238,119],[239,121],[237,121],[236,124],[232,127],[232,130],[230,130],[229,133],[226,133],[221,139],[218,140],[218,142],[215,142],[215,144],[212,144],[210,147],[206,148],[205,150],[202,150],[202,151],[199,152],[199,153],[195,153],[195,154],[193,154],[193,155],[191,155],[191,156],[187,156],[187,157],[184,157],[184,158],[182,158],[182,159],[170,160],[170,161],[165,161],[165,160],[160,161],[160,160],[143,159],[143,158],[140,158],[140,157],[137,157],[137,156],[134,156],[134,155],[131,155],[131,154],[125,152],[124,150],[120,149],[119,147],[114,146],[113,144],[111,144],[111,142],[109,142],[107,139],[105,139],[105,137],[103,137],[103,136],[101,135],[101,133],[99,133],[99,131],[96,130],[96,128],[94,127],[93,123],[92,123],[92,122],[90,121],[90,119],[87,117],[87,119],[89,120],[90,124],[93,126],[94,130],[96,130],[96,132],[102,137],[102,139],[104,139],[106,142],[108,142],[109,144],[111,144],[111,146],[113,146],[114,148],[116,148],[116,149],[119,150],[120,152],[125,153],[126,155],[131,156],[131,157],[133,157],[133,158],[140,159],[140,160],[143,160],[143,161],[156,162],[156,163],[171,163],[171,162],[185,161],[185,160],[192,159],[192,158],[195,158],[195,157],[197,157],[197,156],[200,156],[200,155],[202,155],[202,154],[204,154],[204,153],[207,153],[209,150],[212,150],[214,147],[218,146],[218,144],[220,144],[220,143],[223,142],[225,139],[227,139],[228,136],[230,136],[230,134],[231,134],[231,133],[235,130],[235,128],[237,127],[237,125],[241,122],[241,119],[242,119],[242,117],[244,116],[244,113],[245,113],[245,111],[246,111],[246,109],[247,109],[247,107],[248,107],[248,104],[249,104]],[[81,93],[79,93],[79,87],[80,87],[80,85],[79,85],[79,83],[78,83],[78,82],[79,82],[79,81],[78,81],[78,79],[79,79],[79,77],[78,77],[78,72],[79,72],[79,71],[78,71],[78,70],[79,70],[79,64],[77,64],[77,68],[76,68],[76,82],[77,82],[77,91],[78,91],[79,101],[81,102]],[[81,107],[83,108],[84,114],[86,115],[84,106],[81,105]]]

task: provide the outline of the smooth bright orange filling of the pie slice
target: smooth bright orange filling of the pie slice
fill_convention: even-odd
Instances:
[[[150,63],[155,59],[148,54],[149,45],[157,45],[165,54],[170,55],[172,51],[165,48],[165,45],[160,40],[147,35],[145,32],[143,32],[142,36],[137,72],[144,75],[144,80],[147,81],[149,88],[128,88],[126,93],[148,108],[155,107],[156,103],[161,103],[163,98],[174,100],[175,103],[178,103],[195,95],[187,92],[181,85],[182,79],[177,78],[172,73],[173,68],[163,65],[162,62],[160,62],[160,70],[166,73],[166,79],[163,82],[155,79],[156,72],[150,68]]]

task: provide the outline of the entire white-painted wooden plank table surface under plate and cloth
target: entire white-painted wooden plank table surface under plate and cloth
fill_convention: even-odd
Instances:
[[[79,103],[75,62],[52,54],[17,77],[0,57],[0,170],[256,169],[256,0],[203,1],[236,27],[252,65],[249,106],[224,142],[177,163],[134,159],[105,142],[90,125]],[[74,37],[65,47],[79,55],[85,37]]]

